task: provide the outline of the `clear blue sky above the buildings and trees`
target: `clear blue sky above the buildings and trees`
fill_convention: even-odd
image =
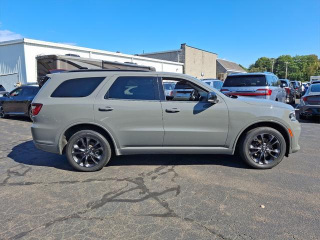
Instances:
[[[21,37],[129,54],[186,43],[248,66],[320,55],[320,0],[0,0],[0,40]]]

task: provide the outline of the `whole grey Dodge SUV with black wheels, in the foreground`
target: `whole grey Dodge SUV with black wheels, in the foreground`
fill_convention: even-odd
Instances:
[[[32,101],[33,141],[65,153],[77,170],[101,169],[112,154],[235,151],[271,168],[299,149],[292,106],[227,96],[192,76],[87,69],[47,76]],[[183,89],[166,95],[167,81]]]

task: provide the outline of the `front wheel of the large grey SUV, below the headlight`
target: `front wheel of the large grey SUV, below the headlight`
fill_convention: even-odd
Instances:
[[[263,138],[261,138],[260,134]],[[272,140],[270,140],[271,136],[273,136]],[[254,140],[255,138],[257,141]],[[270,140],[271,144],[263,145],[261,139],[263,139],[264,142]],[[257,169],[269,169],[277,165],[283,159],[286,149],[284,137],[279,131],[272,127],[253,128],[241,137],[239,143],[239,153],[244,162]],[[259,147],[261,150],[258,150]],[[251,152],[251,155],[249,152]],[[275,157],[272,157],[271,154]]]

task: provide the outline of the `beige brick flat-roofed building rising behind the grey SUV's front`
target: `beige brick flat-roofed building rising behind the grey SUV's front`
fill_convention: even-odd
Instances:
[[[214,52],[202,50],[185,43],[180,49],[137,54],[150,58],[183,63],[183,73],[197,78],[216,78],[216,57]]]

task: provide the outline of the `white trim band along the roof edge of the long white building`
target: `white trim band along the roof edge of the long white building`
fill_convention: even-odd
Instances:
[[[153,62],[163,62],[163,63],[170,63],[175,65],[183,65],[183,63],[175,62],[175,61],[167,61],[167,60],[160,60],[150,57],[144,57],[144,56],[137,56],[137,55],[131,55],[131,54],[125,54],[125,53],[118,53],[118,52],[112,52],[112,51],[106,51],[106,50],[99,50],[94,48],[88,48],[83,46],[74,46],[74,45],[68,45],[63,43],[56,43],[51,41],[42,41],[42,40],[35,40],[30,38],[21,38],[16,40],[9,40],[9,41],[3,41],[0,42],[1,45],[10,45],[10,44],[16,44],[16,43],[31,43],[31,44],[38,44],[38,45],[49,45],[49,46],[55,46],[55,47],[61,47],[61,48],[67,48],[72,50],[79,50],[79,51],[85,51],[85,52],[93,52],[93,53],[102,53],[102,54],[109,54],[114,56],[123,56],[128,58],[135,58],[136,60],[149,60]]]

